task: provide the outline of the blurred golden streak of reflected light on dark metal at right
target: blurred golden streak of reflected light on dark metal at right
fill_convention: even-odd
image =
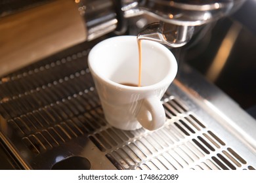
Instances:
[[[224,37],[223,42],[221,43],[221,46],[219,46],[219,50],[213,59],[213,63],[206,73],[206,77],[212,82],[215,82],[221,74],[241,29],[242,25],[234,23],[230,27],[228,33],[226,33],[226,37]]]

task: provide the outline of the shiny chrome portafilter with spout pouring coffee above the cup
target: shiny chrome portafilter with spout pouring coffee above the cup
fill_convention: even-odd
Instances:
[[[147,26],[141,31],[139,39],[149,39],[171,47],[180,47],[190,41],[194,26],[218,20],[234,12],[243,3],[244,1],[240,0],[145,0],[133,1],[123,7],[123,11],[127,18],[147,14],[160,20],[160,23]]]

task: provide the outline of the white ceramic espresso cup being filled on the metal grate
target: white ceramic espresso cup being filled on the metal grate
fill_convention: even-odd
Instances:
[[[158,129],[165,123],[161,97],[177,74],[177,61],[158,42],[142,41],[141,87],[137,37],[118,36],[94,46],[89,69],[107,122],[119,129]]]

